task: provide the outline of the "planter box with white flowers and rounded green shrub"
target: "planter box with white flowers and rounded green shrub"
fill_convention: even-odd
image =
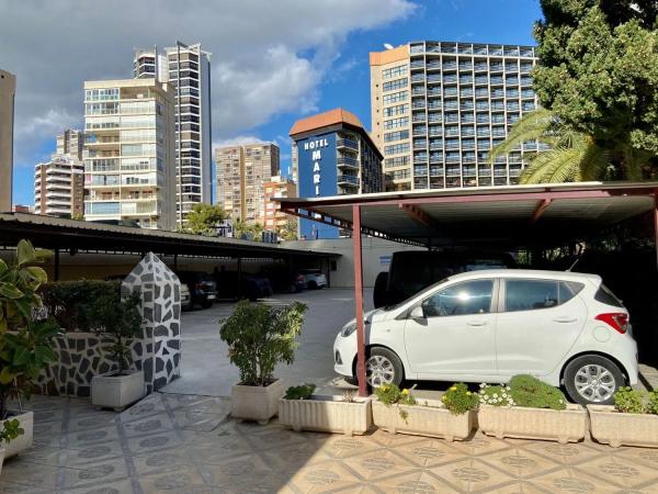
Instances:
[[[479,428],[489,436],[575,442],[587,431],[587,412],[560,390],[527,374],[508,385],[480,384]]]

